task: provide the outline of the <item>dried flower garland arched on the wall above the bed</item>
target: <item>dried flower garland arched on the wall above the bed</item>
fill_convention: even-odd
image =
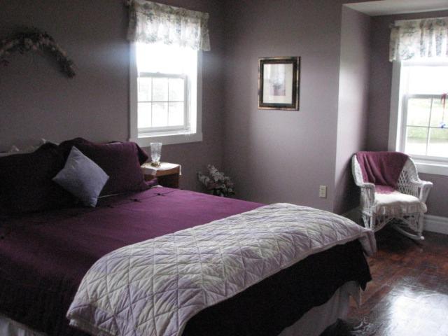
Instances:
[[[12,52],[18,51],[23,54],[29,50],[50,52],[56,58],[63,73],[69,78],[75,76],[73,61],[67,57],[66,52],[57,45],[46,31],[40,31],[36,28],[22,29],[2,40],[0,43],[0,63],[8,65],[10,61],[7,57]]]

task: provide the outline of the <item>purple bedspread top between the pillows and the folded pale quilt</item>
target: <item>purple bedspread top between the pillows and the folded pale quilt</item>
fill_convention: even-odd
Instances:
[[[103,255],[261,205],[152,188],[100,200],[95,209],[0,218],[0,312],[48,335],[82,335],[65,314],[84,274]]]

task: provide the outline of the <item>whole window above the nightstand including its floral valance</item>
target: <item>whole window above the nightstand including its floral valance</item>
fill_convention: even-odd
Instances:
[[[210,50],[209,14],[128,0],[130,140],[202,141],[202,51]]]

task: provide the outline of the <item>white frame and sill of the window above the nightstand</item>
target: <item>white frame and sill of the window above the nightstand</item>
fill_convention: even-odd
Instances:
[[[155,73],[157,76],[179,76],[171,74]],[[130,139],[139,146],[148,147],[151,142],[161,142],[164,145],[169,144],[186,144],[190,142],[202,141],[202,52],[197,52],[197,88],[196,88],[196,117],[191,118],[193,111],[188,109],[188,120],[195,119],[195,125],[190,125],[186,129],[171,129],[171,127],[163,127],[160,132],[139,132],[138,128],[138,86],[137,78],[137,50],[134,42],[130,42]],[[188,97],[194,92],[192,87],[188,87]],[[188,120],[185,120],[188,123]]]

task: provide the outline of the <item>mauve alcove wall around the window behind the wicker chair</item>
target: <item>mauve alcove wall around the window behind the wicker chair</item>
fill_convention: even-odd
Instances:
[[[389,25],[395,20],[435,18],[438,16],[448,16],[448,11],[386,15],[372,18],[370,109],[367,140],[367,148],[370,151],[386,151],[388,149],[392,81],[392,63],[388,61]],[[448,217],[448,176],[420,174],[420,178],[434,183],[427,202],[428,214]]]

